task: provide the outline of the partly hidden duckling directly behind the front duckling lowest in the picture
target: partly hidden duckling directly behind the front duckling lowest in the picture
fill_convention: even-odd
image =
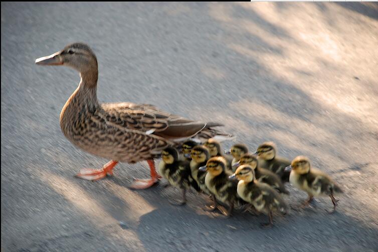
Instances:
[[[278,192],[289,194],[289,191],[286,190],[284,184],[281,181],[281,178],[272,171],[259,167],[259,161],[257,156],[251,153],[245,153],[240,158],[240,165],[248,164],[255,172],[255,178],[259,182],[267,183]]]

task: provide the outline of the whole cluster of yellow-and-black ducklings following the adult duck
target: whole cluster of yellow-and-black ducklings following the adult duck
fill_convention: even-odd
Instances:
[[[302,206],[308,205],[314,196],[328,195],[334,211],[338,201],[334,195],[342,192],[327,174],[311,167],[306,156],[297,156],[292,161],[277,156],[273,142],[264,142],[250,153],[242,143],[223,151],[220,142],[214,139],[204,144],[187,140],[180,152],[174,147],[165,148],[159,163],[159,172],[169,185],[182,189],[182,200],[171,202],[176,205],[186,203],[186,191],[193,187],[212,197],[213,204],[207,210],[219,209],[223,216],[229,217],[234,207],[244,207],[268,215],[269,222],[263,225],[272,226],[272,211],[286,214],[289,210],[282,196],[289,194],[285,182],[308,193]]]

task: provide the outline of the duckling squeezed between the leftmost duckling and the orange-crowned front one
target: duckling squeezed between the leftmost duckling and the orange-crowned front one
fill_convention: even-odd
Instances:
[[[207,161],[210,158],[209,150],[201,145],[194,146],[191,150],[192,160],[190,162],[192,177],[196,180],[198,186],[201,190],[210,195],[210,191],[205,184],[206,170],[200,170],[199,168],[206,165]]]

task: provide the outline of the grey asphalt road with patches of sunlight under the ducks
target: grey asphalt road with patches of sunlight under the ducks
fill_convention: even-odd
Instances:
[[[2,2],[2,251],[377,251],[378,5],[323,3]],[[36,58],[83,41],[99,61],[101,101],[152,103],[221,121],[251,149],[311,158],[343,187],[339,208],[217,219],[194,192],[133,191],[145,162],[114,177],[65,139],[59,114],[79,82]],[[225,142],[228,147],[232,142]],[[290,189],[295,206],[306,194]]]

